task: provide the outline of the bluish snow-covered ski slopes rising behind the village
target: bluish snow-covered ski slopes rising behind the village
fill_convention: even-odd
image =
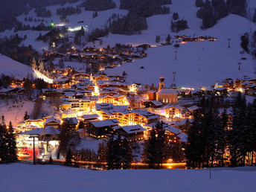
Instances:
[[[78,1],[74,4],[65,4],[62,7],[73,6],[76,7],[80,4]],[[127,15],[127,10],[119,10],[119,0],[115,0],[116,8],[111,10],[98,11],[98,16],[92,18],[93,11],[86,11],[81,9],[80,14],[74,14],[68,16],[69,23],[65,25],[66,28],[80,28],[83,26],[85,31],[92,31],[94,28],[103,28],[107,19],[112,16],[112,13]],[[60,16],[57,16],[56,10],[60,5],[46,7],[47,10],[51,10],[52,16],[50,18],[36,18],[36,13],[31,10],[28,15],[19,16],[19,21],[23,24],[39,25],[40,22],[25,22],[25,16],[33,16],[33,19],[44,19],[45,25],[50,25],[51,21],[60,24]],[[105,47],[107,45],[113,46],[116,43],[129,44],[129,45],[160,45],[161,42],[165,42],[167,34],[170,34],[172,38],[176,35],[186,36],[213,36],[217,38],[215,42],[187,42],[180,44],[177,39],[172,39],[173,44],[179,43],[180,47],[176,50],[173,45],[159,46],[149,48],[146,52],[147,58],[142,60],[136,60],[134,63],[125,63],[118,68],[107,69],[106,74],[122,74],[123,71],[127,72],[127,81],[135,83],[158,84],[159,76],[164,74],[166,86],[170,86],[173,83],[173,72],[176,72],[176,86],[210,86],[213,85],[216,80],[222,81],[225,78],[255,78],[255,68],[252,61],[252,56],[248,54],[240,54],[242,48],[240,47],[240,35],[249,32],[249,20],[241,16],[229,14],[223,19],[217,22],[213,28],[208,30],[201,30],[202,19],[196,17],[196,11],[199,10],[195,7],[195,0],[173,0],[173,4],[167,5],[170,7],[170,13],[166,15],[156,15],[147,18],[148,28],[145,31],[141,31],[138,35],[120,35],[109,34],[100,39],[103,40],[103,45],[100,45],[98,41],[93,44],[89,42],[86,46],[95,46],[97,48]],[[251,1],[251,13],[255,11],[256,2]],[[180,31],[179,33],[172,33],[170,31],[170,21],[173,13],[179,13],[179,19],[186,19],[188,21],[188,29]],[[78,23],[83,21],[83,23]],[[256,30],[256,26],[252,23],[252,31]],[[42,35],[46,33],[42,31]],[[13,31],[5,31],[0,33],[0,36],[11,35]],[[19,35],[24,36],[28,34],[28,39],[22,42],[25,45],[33,45],[37,51],[42,52],[42,49],[47,50],[48,44],[43,42],[36,42],[35,39],[39,36],[39,31],[19,31]],[[73,36],[74,33],[70,33]],[[160,36],[160,42],[156,43],[156,36]],[[231,39],[231,48],[228,48],[228,39]],[[70,38],[72,39],[72,38]],[[77,46],[77,48],[83,48]],[[246,60],[241,60],[244,57]],[[57,63],[57,61],[54,61]],[[238,70],[238,63],[241,63],[240,70]],[[65,66],[71,65],[77,68],[83,68],[78,66],[77,63],[65,63]],[[140,69],[143,66],[143,69]],[[8,70],[10,71],[10,70]]]

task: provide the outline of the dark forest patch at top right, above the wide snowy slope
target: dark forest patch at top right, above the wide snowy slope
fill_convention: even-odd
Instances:
[[[202,19],[202,28],[211,28],[217,20],[225,17],[228,13],[246,17],[246,0],[196,0],[196,7],[201,7],[196,16]]]

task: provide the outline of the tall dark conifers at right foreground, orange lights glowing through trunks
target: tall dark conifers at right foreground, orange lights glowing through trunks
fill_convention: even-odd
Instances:
[[[220,115],[214,97],[203,98],[188,129],[186,149],[190,168],[252,165],[256,150],[256,100],[246,103],[239,93],[232,107]]]

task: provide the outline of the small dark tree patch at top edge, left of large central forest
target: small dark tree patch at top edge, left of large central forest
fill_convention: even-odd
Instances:
[[[85,10],[100,11],[114,9],[116,5],[112,0],[86,0],[80,4],[80,7],[84,7]]]

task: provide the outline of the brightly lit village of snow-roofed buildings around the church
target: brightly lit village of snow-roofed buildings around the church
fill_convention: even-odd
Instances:
[[[143,144],[157,122],[164,123],[165,142],[179,143],[182,150],[188,144],[185,126],[193,122],[193,113],[199,109],[201,97],[218,97],[222,108],[228,103],[229,113],[236,92],[255,95],[255,80],[226,79],[223,85],[215,83],[212,88],[193,89],[171,85],[166,88],[164,76],[159,86],[142,86],[126,83],[124,76],[86,74],[72,68],[55,70],[52,84],[42,89],[40,102],[50,103],[55,111],[42,114],[41,118],[29,118],[16,124],[19,158],[31,159],[33,139],[38,159],[56,157],[60,144],[60,127],[68,125],[79,133],[85,142],[106,141],[112,134],[129,138],[132,147]],[[72,74],[67,76],[66,74]],[[23,79],[13,79],[4,95],[25,95]],[[35,86],[32,84],[31,86]],[[32,136],[31,136],[32,135]],[[71,144],[73,150],[76,144]],[[140,158],[138,158],[140,159]]]

